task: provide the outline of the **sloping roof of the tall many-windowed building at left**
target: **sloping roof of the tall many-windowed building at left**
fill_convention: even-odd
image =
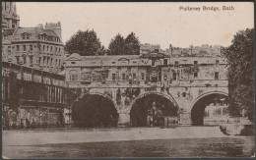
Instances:
[[[19,35],[22,33],[31,33],[31,34],[46,34],[48,36],[58,36],[53,30],[46,28],[38,28],[38,27],[18,27],[15,31],[15,35]]]

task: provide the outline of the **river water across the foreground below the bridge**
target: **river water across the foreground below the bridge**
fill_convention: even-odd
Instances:
[[[197,128],[195,131],[201,129],[213,131],[213,128]],[[186,138],[174,136],[178,130],[192,135]],[[58,133],[59,136],[55,136],[54,133]],[[95,136],[92,136],[93,134]],[[114,135],[111,136],[112,134]],[[131,134],[135,134],[136,138],[128,137]],[[170,136],[166,136],[167,134]],[[9,158],[251,157],[254,155],[254,136],[213,134],[217,136],[214,137],[206,136],[203,132],[200,137],[193,134],[194,128],[172,131],[124,129],[121,131],[7,132],[3,133],[3,155]],[[49,137],[49,135],[52,136]],[[29,140],[30,136],[31,140]],[[49,138],[45,138],[46,136]],[[13,140],[10,137],[14,137]],[[40,137],[45,140],[38,140]],[[47,141],[47,139],[54,140]]]

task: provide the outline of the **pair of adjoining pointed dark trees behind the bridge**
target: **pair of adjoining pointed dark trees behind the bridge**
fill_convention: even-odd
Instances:
[[[134,32],[131,32],[124,37],[121,34],[117,34],[109,43],[108,55],[139,55],[140,54],[140,41],[135,36]]]

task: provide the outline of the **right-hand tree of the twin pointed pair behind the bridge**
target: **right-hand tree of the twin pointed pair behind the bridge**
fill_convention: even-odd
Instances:
[[[140,54],[140,41],[135,36],[134,32],[127,35],[125,42],[125,55],[139,55]]]

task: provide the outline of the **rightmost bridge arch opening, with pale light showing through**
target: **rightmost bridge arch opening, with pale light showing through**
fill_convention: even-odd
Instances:
[[[199,96],[191,106],[192,125],[220,125],[228,115],[227,98],[227,93],[219,91]]]

